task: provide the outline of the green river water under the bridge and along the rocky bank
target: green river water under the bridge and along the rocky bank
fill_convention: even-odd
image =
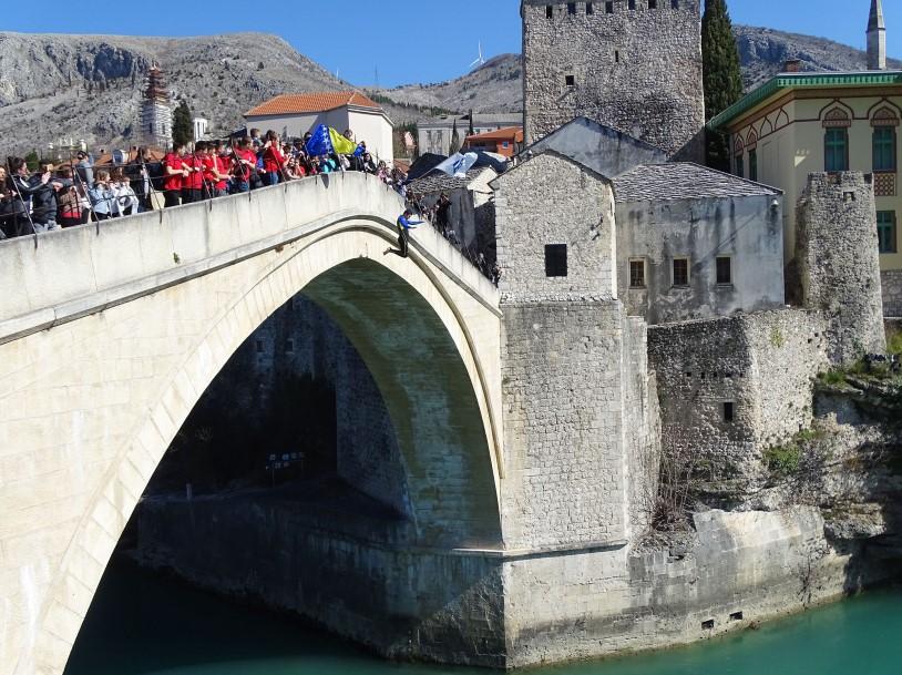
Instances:
[[[291,618],[229,604],[115,562],[65,675],[485,675],[379,661]],[[881,591],[758,631],[529,675],[900,675],[902,591]]]

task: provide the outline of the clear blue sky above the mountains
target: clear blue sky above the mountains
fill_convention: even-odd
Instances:
[[[884,0],[889,53],[902,57],[902,2]],[[737,23],[864,47],[870,0],[729,0]],[[481,41],[486,58],[520,52],[520,0],[109,0],[6,2],[1,30],[197,35],[278,33],[358,85],[438,82],[467,72]],[[55,10],[55,11],[54,11]]]

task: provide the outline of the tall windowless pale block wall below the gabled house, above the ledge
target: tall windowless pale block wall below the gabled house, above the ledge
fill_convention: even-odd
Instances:
[[[623,306],[568,301],[502,308],[505,544],[623,540]]]

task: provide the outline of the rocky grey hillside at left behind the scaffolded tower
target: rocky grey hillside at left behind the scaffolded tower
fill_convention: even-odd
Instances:
[[[60,137],[132,143],[147,69],[158,64],[175,96],[218,131],[286,91],[335,91],[334,78],[270,34],[127,38],[0,33],[0,145],[22,153]],[[389,106],[389,114],[410,116]]]

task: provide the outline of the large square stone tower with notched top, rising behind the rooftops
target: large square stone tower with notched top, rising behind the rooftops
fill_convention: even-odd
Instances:
[[[700,160],[699,0],[522,0],[526,143],[585,115]]]

